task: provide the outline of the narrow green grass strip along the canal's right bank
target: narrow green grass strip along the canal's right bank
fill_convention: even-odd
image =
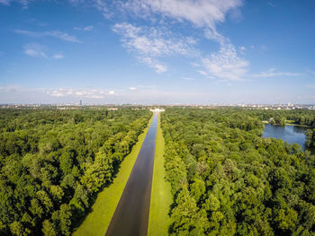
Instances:
[[[151,203],[148,218],[148,236],[163,236],[168,234],[168,226],[172,223],[168,215],[169,206],[173,202],[171,187],[166,182],[166,170],[164,168],[164,149],[160,122],[157,126],[156,153],[153,169],[153,181],[151,192]]]

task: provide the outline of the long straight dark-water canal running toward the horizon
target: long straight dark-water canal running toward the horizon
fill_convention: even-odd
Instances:
[[[147,235],[157,119],[158,115],[154,114],[106,236]]]

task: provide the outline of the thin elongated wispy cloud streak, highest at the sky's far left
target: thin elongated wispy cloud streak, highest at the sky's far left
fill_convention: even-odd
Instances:
[[[53,37],[56,39],[60,39],[63,41],[68,42],[76,42],[79,43],[80,41],[76,39],[76,36],[69,35],[62,31],[43,31],[43,32],[36,32],[36,31],[24,31],[24,30],[15,30],[16,33],[23,34],[32,38],[38,37]]]

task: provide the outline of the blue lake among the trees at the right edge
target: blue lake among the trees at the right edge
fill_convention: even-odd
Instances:
[[[310,150],[311,153],[314,153],[314,149],[306,148],[306,135],[305,131],[307,127],[295,127],[295,126],[272,126],[270,124],[265,124],[265,130],[263,137],[274,137],[281,138],[282,140],[287,141],[289,144],[299,144],[302,147],[302,150]]]

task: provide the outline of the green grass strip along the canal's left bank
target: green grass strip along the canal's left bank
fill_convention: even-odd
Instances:
[[[152,118],[148,123],[148,127],[151,121]],[[137,160],[142,143],[148,133],[148,127],[139,135],[137,144],[132,147],[130,154],[121,162],[121,168],[116,178],[113,179],[112,184],[108,188],[103,188],[103,191],[97,195],[96,201],[92,206],[92,212],[86,216],[85,221],[72,234],[73,236],[105,235],[133,165]]]

